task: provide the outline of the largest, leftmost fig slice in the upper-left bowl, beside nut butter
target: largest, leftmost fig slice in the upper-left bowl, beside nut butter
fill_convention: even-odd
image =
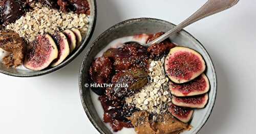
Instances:
[[[52,37],[48,34],[38,35],[30,43],[24,66],[31,70],[42,70],[47,68],[57,57],[58,49]]]

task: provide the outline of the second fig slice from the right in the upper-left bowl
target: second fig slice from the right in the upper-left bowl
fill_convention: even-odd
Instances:
[[[76,36],[71,30],[64,30],[63,34],[66,35],[69,41],[70,53],[76,48]]]

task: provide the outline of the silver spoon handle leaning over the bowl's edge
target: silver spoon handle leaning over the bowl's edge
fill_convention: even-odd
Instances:
[[[172,36],[173,34],[179,32],[187,25],[194,23],[200,19],[203,19],[207,16],[222,12],[226,9],[231,8],[232,6],[236,5],[239,0],[209,0],[207,1],[199,10],[197,10],[194,14],[188,17],[186,20],[175,26],[172,30],[166,32],[162,36],[158,37],[157,39],[148,42],[147,46],[150,46],[155,43],[160,43],[166,38]]]

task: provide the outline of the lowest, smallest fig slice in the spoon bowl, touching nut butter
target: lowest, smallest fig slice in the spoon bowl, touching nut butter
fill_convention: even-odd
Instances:
[[[188,108],[182,107],[182,106],[177,106],[173,103],[169,103],[169,112],[179,119],[180,121],[187,123],[191,120],[192,115],[194,113],[194,110],[190,110]]]

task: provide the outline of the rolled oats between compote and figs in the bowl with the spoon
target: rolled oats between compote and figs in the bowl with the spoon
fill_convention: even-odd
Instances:
[[[126,98],[127,104],[135,105],[138,109],[153,114],[166,112],[171,95],[168,90],[169,79],[165,76],[163,69],[163,61],[164,59],[151,61],[148,73],[150,83],[144,86],[139,93]]]

